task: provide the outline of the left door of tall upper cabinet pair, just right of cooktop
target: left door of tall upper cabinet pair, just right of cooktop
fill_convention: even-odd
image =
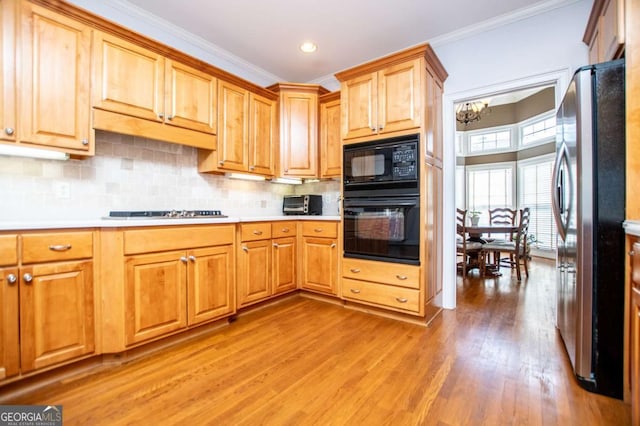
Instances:
[[[249,170],[249,92],[218,82],[218,167]]]

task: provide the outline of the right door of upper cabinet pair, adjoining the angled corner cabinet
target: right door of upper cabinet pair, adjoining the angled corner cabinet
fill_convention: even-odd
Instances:
[[[276,103],[255,93],[249,94],[249,171],[274,175]]]

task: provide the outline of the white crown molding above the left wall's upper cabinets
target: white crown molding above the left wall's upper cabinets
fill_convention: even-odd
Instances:
[[[266,86],[272,84],[275,81],[282,81],[283,79],[275,74],[248,62],[231,52],[222,49],[221,47],[210,43],[189,31],[178,27],[165,19],[162,19],[134,4],[129,3],[126,0],[111,0],[108,2],[111,9],[120,15],[125,15],[132,22],[140,22],[145,26],[157,29],[162,34],[168,36],[165,40],[158,40],[166,44],[172,45],[172,47],[179,50],[184,50],[185,47],[189,51],[185,52],[194,57],[210,63],[221,69],[225,69],[233,74],[244,74],[241,77],[252,81],[258,85]],[[135,28],[131,28],[134,31],[138,31]],[[149,34],[144,34],[147,37],[151,37]],[[175,46],[175,43],[170,43],[172,39],[185,44],[185,46]],[[231,65],[231,67],[229,67]],[[233,68],[233,69],[229,69]]]

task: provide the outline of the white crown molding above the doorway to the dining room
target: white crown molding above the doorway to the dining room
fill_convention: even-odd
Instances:
[[[533,6],[523,7],[514,12],[498,15],[494,18],[487,19],[486,21],[482,21],[474,25],[469,25],[468,27],[464,27],[457,31],[433,37],[427,41],[433,47],[442,46],[468,37],[473,37],[505,25],[513,24],[536,15],[547,13],[554,9],[578,3],[579,1],[582,0],[547,0],[542,3],[536,3]]]

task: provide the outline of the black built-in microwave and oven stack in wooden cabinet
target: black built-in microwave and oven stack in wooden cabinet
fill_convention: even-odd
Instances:
[[[344,146],[344,256],[420,264],[419,135]]]

